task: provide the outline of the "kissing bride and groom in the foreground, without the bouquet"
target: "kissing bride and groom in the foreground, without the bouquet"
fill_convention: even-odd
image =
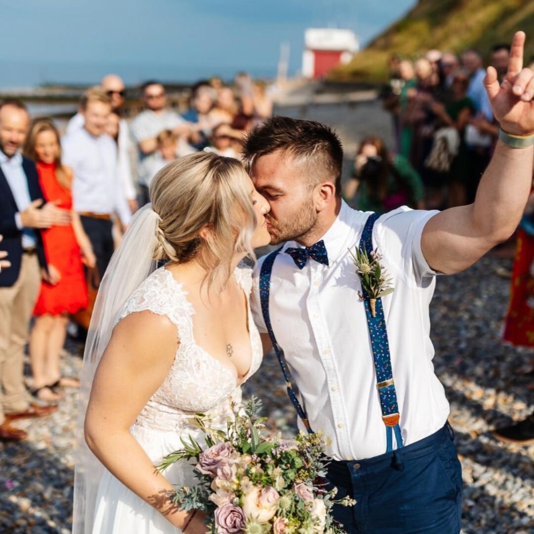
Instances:
[[[527,201],[534,109],[515,86],[534,73],[518,60],[523,43],[516,34],[513,84],[499,86],[491,68],[486,76],[501,134],[473,205],[353,210],[341,198],[336,133],[287,117],[250,132],[244,165],[198,153],[155,176],[152,205],[117,248],[92,318],[73,532],[206,532],[202,512],[161,497],[194,486],[193,467],[177,462],[163,476],[154,465],[180,437],[202,438],[192,414],[224,425],[274,348],[300,428],[331,438],[327,484],[357,501],[334,508],[344,530],[458,534],[461,466],[428,308],[436,274],[506,239]],[[243,263],[268,244],[278,247],[254,269]],[[373,309],[356,250],[378,253],[394,288]]]

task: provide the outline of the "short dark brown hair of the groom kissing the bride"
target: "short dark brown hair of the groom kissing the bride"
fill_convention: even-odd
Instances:
[[[298,159],[307,159],[320,180],[333,180],[336,195],[341,196],[343,146],[331,127],[317,121],[274,116],[250,131],[241,157],[252,174],[258,158],[279,150]]]

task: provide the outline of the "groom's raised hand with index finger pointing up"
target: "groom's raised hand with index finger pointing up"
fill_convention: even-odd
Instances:
[[[501,129],[520,136],[534,134],[534,72],[523,68],[525,37],[524,32],[514,35],[504,81],[499,85],[493,67],[488,67],[484,78],[493,115]]]

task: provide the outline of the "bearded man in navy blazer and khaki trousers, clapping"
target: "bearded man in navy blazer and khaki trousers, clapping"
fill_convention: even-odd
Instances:
[[[24,347],[41,279],[54,283],[46,265],[41,229],[70,224],[70,213],[45,202],[35,163],[19,150],[29,115],[19,100],[0,105],[0,234],[11,266],[0,271],[0,441],[26,432],[10,422],[42,417],[57,406],[30,402],[23,377]]]

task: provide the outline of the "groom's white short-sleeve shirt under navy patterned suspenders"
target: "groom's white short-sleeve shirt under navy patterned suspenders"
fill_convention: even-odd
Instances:
[[[436,273],[421,251],[423,227],[436,213],[399,208],[382,215],[373,231],[373,246],[383,255],[381,263],[395,288],[382,302],[404,445],[433,434],[449,415],[449,403],[432,364],[429,304]],[[349,254],[358,246],[369,215],[343,202],[322,238],[329,266],[308,260],[300,270],[284,250],[301,245],[288,242],[274,262],[271,277],[274,335],[300,390],[311,428],[323,430],[332,439],[327,452],[337,460],[386,452],[367,318]],[[252,297],[260,332],[266,332],[258,286],[263,260],[256,265]]]

